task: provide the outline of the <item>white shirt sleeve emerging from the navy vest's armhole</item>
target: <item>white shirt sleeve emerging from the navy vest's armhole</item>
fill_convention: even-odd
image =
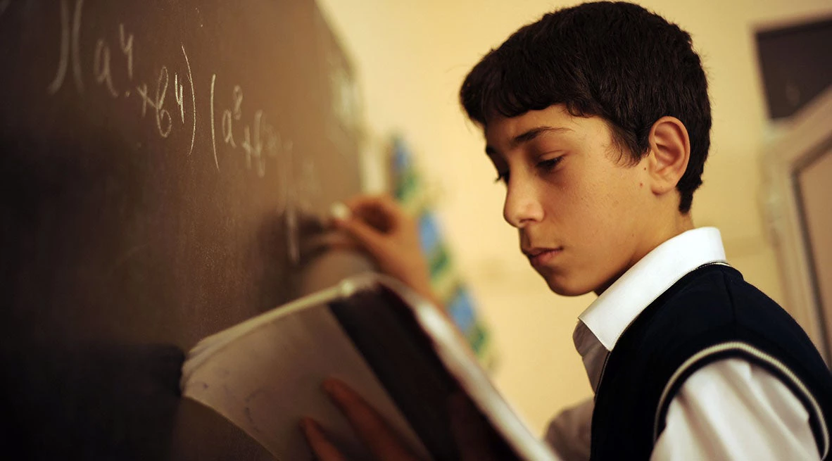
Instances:
[[[800,400],[780,379],[743,359],[691,374],[665,422],[651,461],[820,459]]]

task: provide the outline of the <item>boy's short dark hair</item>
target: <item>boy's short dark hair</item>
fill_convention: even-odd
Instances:
[[[573,116],[600,116],[631,164],[649,150],[653,123],[675,116],[691,139],[676,189],[691,209],[711,146],[711,103],[691,36],[626,2],[584,3],[544,15],[488,52],[459,92],[468,117],[485,128],[554,104]]]

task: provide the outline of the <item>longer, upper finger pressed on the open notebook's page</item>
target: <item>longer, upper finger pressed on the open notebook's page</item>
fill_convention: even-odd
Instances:
[[[384,418],[359,394],[337,379],[324,381],[324,389],[376,459],[416,461]]]

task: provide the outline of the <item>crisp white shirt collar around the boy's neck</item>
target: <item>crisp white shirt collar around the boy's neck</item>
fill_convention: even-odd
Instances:
[[[722,237],[716,227],[687,230],[647,253],[578,318],[610,351],[641,311],[676,281],[701,265],[725,260]],[[577,342],[576,347],[580,352]]]

